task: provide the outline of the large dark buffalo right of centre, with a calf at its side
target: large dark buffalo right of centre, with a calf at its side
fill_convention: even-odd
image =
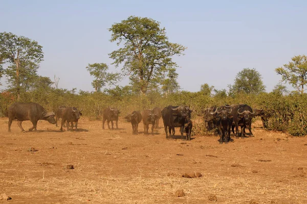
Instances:
[[[171,130],[174,135],[175,127],[180,127],[181,139],[183,139],[184,124],[187,118],[191,118],[191,112],[189,107],[186,106],[168,106],[162,110],[166,139],[168,138],[167,128],[169,135],[171,135]]]

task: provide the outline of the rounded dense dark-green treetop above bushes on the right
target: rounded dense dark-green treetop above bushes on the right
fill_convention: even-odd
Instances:
[[[266,86],[262,82],[261,74],[255,68],[244,68],[238,72],[233,85],[228,85],[229,95],[235,93],[251,93],[258,94],[266,90]]]

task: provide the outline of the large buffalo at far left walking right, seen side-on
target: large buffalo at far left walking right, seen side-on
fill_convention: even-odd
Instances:
[[[48,122],[55,124],[53,112],[47,112],[42,106],[36,103],[15,103],[9,107],[9,132],[11,132],[11,124],[13,120],[18,121],[20,130],[25,132],[21,122],[30,120],[33,127],[29,131],[36,131],[36,125],[38,120],[47,120]]]

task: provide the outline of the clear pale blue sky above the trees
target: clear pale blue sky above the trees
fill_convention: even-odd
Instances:
[[[160,21],[171,42],[188,47],[174,58],[183,90],[226,88],[249,67],[271,91],[281,79],[274,69],[307,55],[307,1],[2,0],[0,32],[38,41],[45,53],[39,74],[56,74],[60,88],[92,91],[85,67],[104,62],[116,70],[107,54],[117,46],[107,29],[130,15]]]

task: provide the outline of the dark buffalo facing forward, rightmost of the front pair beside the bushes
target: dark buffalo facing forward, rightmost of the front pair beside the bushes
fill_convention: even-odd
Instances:
[[[251,130],[252,126],[252,117],[255,116],[255,111],[248,105],[235,105],[232,106],[231,115],[233,116],[233,121],[236,129],[236,138],[239,137],[239,128],[241,127],[241,137],[245,137],[245,127],[248,127],[251,137],[253,137],[253,133]]]

